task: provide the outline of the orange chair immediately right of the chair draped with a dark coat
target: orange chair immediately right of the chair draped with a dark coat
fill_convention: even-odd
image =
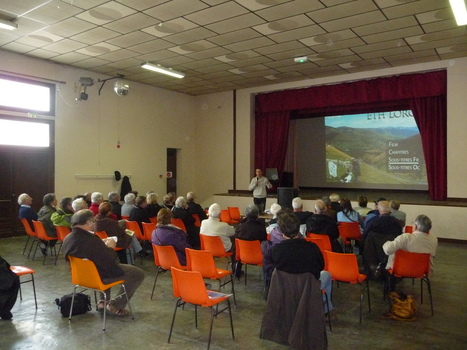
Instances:
[[[366,282],[368,295],[368,311],[371,312],[370,287],[366,275],[358,271],[357,256],[355,254],[333,253],[328,250],[324,252],[327,260],[327,270],[332,276],[333,281],[346,282],[350,284],[358,283],[360,285],[360,323],[362,323],[363,311],[363,282]]]

